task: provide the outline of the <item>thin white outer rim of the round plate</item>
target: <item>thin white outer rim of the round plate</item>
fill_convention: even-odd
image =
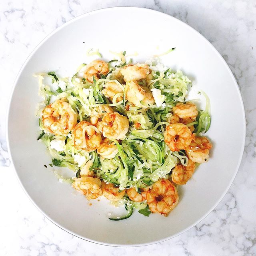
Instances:
[[[14,94],[14,90],[16,88],[16,85],[17,85],[17,82],[26,66],[26,64],[28,63],[28,61],[32,58],[32,56],[35,54],[35,52],[38,50],[38,48],[40,48],[40,46],[42,44],[44,44],[44,42],[46,42],[48,40],[48,38],[50,38],[52,35],[56,34],[59,30],[61,30],[62,28],[68,26],[69,24],[72,24],[73,22],[75,22],[76,20],[79,20],[81,18],[83,18],[84,16],[90,16],[91,14],[94,14],[94,13],[97,13],[97,12],[106,12],[108,10],[111,10],[111,9],[140,9],[140,11],[142,12],[150,12],[150,13],[158,13],[160,15],[163,15],[163,16],[166,16],[166,18],[168,19],[174,19],[176,20],[177,22],[180,22],[182,24],[184,24],[188,29],[192,30],[193,32],[195,32],[200,38],[202,38],[206,44],[208,44],[213,50],[214,52],[216,53],[216,55],[220,58],[220,60],[224,63],[224,65],[226,66],[226,68],[228,69],[228,72],[234,82],[234,84],[236,85],[235,88],[236,88],[236,91],[238,93],[238,96],[239,96],[239,99],[240,99],[240,105],[241,105],[241,108],[242,108],[242,124],[243,124],[243,134],[242,134],[242,147],[240,149],[240,156],[239,156],[239,159],[238,159],[238,164],[236,166],[236,169],[235,169],[235,172],[232,176],[232,178],[230,179],[230,182],[227,186],[227,188],[224,190],[224,192],[222,193],[222,195],[220,196],[219,200],[214,204],[214,206],[212,208],[210,208],[210,210],[208,210],[208,212],[206,212],[206,214],[204,214],[201,218],[199,218],[196,222],[194,222],[194,224],[188,226],[187,228],[184,228],[183,230],[181,230],[180,232],[172,235],[172,236],[168,236],[166,238],[163,238],[163,239],[160,239],[160,240],[156,240],[154,242],[148,242],[148,243],[143,243],[143,244],[110,244],[110,243],[104,243],[104,242],[99,242],[99,241],[96,241],[96,240],[93,240],[93,239],[90,239],[90,238],[85,238],[83,236],[80,236],[66,228],[64,228],[63,226],[61,226],[60,224],[56,223],[54,220],[52,220],[52,218],[50,216],[48,216],[42,209],[40,209],[40,207],[36,204],[36,202],[34,202],[34,200],[30,197],[30,195],[28,194],[28,192],[26,191],[26,188],[23,186],[20,178],[19,178],[19,175],[18,175],[18,172],[13,164],[13,159],[12,159],[12,151],[10,149],[10,144],[9,144],[9,121],[10,121],[10,105],[12,103],[12,98],[13,98],[13,94]],[[28,198],[30,199],[30,201],[32,202],[32,204],[41,212],[41,214],[43,214],[43,216],[45,216],[48,220],[50,220],[50,222],[52,222],[53,224],[55,224],[56,226],[58,226],[59,228],[61,228],[62,230],[68,232],[69,234],[72,234],[73,236],[76,236],[78,238],[81,238],[82,240],[86,240],[88,242],[92,242],[94,244],[100,244],[100,245],[104,245],[104,246],[111,246],[111,247],[126,247],[126,248],[129,248],[129,247],[140,247],[140,246],[148,246],[148,245],[152,245],[152,244],[158,244],[160,242],[164,242],[164,241],[167,241],[167,240],[170,240],[176,236],[179,236],[180,234],[188,231],[190,228],[196,226],[198,223],[200,223],[202,220],[204,220],[204,218],[206,218],[206,216],[208,216],[217,206],[218,204],[222,201],[222,199],[224,198],[224,196],[226,195],[226,193],[228,192],[228,190],[230,189],[230,186],[232,185],[232,183],[234,182],[234,179],[238,173],[238,169],[240,168],[240,164],[242,162],[242,157],[243,157],[243,153],[244,153],[244,146],[245,146],[245,139],[246,139],[246,116],[245,116],[245,110],[244,110],[244,103],[243,103],[243,100],[242,100],[242,95],[241,95],[241,92],[240,92],[240,89],[238,87],[238,83],[236,82],[236,79],[234,77],[234,74],[232,73],[232,71],[230,70],[228,64],[226,63],[226,61],[224,60],[224,58],[222,57],[222,55],[218,52],[218,50],[216,50],[216,48],[202,35],[200,34],[197,30],[195,30],[194,28],[192,28],[190,25],[186,24],[185,22],[179,20],[178,18],[175,18],[169,14],[166,14],[164,12],[161,12],[161,11],[157,11],[157,10],[152,10],[152,9],[149,9],[149,8],[143,8],[143,7],[133,7],[133,6],[116,6],[116,7],[107,7],[107,8],[101,8],[101,9],[98,9],[98,10],[92,10],[90,12],[86,12],[84,14],[80,14],[79,16],[76,16],[74,18],[72,18],[71,20],[69,20],[68,22],[65,22],[64,24],[60,25],[58,28],[54,29],[52,32],[50,32],[46,37],[44,37],[39,43],[38,45],[34,48],[34,50],[32,50],[32,52],[28,55],[28,57],[26,58],[26,60],[24,61],[24,63],[22,64],[15,80],[14,80],[14,83],[12,85],[12,90],[11,90],[11,93],[10,93],[10,96],[9,96],[9,100],[8,100],[8,105],[7,105],[7,114],[6,114],[6,142],[7,142],[7,149],[8,149],[8,152],[9,152],[9,156],[10,156],[10,166],[14,169],[14,172],[16,174],[16,178],[18,179],[18,182],[20,183],[20,186],[22,187],[23,191],[25,192],[26,196],[28,196]]]

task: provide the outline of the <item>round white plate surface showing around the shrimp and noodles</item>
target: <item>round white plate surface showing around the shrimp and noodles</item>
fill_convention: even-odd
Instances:
[[[84,42],[84,43],[83,43]],[[50,156],[38,136],[35,108],[38,81],[33,73],[55,70],[74,74],[88,48],[99,48],[106,60],[112,51],[138,52],[134,60],[176,47],[162,57],[181,69],[210,97],[213,142],[210,160],[187,185],[179,188],[180,202],[167,218],[135,213],[119,222],[108,220],[116,209],[104,199],[89,202],[57,182]],[[143,8],[108,8],[74,18],[47,36],[20,70],[8,114],[8,147],[18,178],[36,207],[64,230],[88,241],[113,246],[140,246],[167,240],[188,230],[220,202],[238,170],[245,140],[245,116],[238,86],[226,62],[198,32],[171,16]]]

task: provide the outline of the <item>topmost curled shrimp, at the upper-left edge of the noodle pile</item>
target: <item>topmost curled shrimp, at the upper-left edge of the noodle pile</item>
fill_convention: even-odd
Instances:
[[[108,63],[103,60],[94,60],[85,66],[84,78],[93,83],[93,77],[98,80],[100,74],[106,75],[108,73]]]

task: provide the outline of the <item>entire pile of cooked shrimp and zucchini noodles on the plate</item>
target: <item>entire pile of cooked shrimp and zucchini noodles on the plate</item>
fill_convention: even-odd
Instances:
[[[127,64],[124,55],[83,64],[71,84],[46,74],[58,89],[41,88],[38,140],[52,164],[74,170],[72,187],[88,200],[125,205],[128,215],[114,220],[136,207],[168,216],[179,202],[176,187],[189,186],[196,164],[208,162],[212,144],[203,133],[210,125],[199,122],[210,115],[185,101],[191,81],[182,72]]]

